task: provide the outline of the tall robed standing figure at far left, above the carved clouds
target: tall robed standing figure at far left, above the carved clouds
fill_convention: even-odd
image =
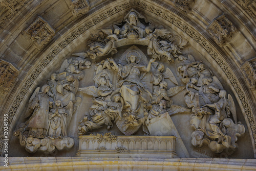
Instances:
[[[43,85],[39,92],[39,87],[34,91],[29,100],[29,106],[25,114],[25,118],[32,116],[27,121],[29,134],[28,137],[33,138],[45,138],[48,130],[48,115],[49,115],[49,100],[47,95],[50,87],[49,85]]]

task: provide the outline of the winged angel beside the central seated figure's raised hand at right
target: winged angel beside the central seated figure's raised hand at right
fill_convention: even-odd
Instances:
[[[173,72],[166,68],[166,71],[164,71],[164,65],[162,63],[158,64],[157,62],[152,63],[152,83],[153,85],[159,85],[161,81],[164,79],[169,79],[170,81],[174,82],[176,85],[178,85],[178,82],[173,74]],[[163,72],[163,73],[162,73]]]

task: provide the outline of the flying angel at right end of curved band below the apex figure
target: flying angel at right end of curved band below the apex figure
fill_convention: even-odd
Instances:
[[[140,41],[150,40],[148,47],[147,47],[147,54],[152,55],[153,58],[161,58],[164,56],[167,58],[168,61],[173,62],[173,56],[169,53],[172,50],[170,46],[164,46],[160,43],[157,39],[158,37],[164,37],[168,35],[170,32],[166,29],[155,29],[153,33],[149,27],[145,28],[145,37],[140,39]],[[166,42],[167,43],[167,42]],[[166,44],[165,43],[165,44]],[[167,43],[168,44],[168,43]]]

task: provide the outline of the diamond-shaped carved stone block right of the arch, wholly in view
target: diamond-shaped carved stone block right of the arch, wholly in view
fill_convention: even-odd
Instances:
[[[225,45],[229,38],[237,32],[232,22],[224,14],[215,18],[206,30],[220,46]]]

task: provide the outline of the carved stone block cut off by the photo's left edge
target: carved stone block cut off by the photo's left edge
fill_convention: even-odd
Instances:
[[[18,76],[18,70],[10,63],[0,60],[0,89],[9,92],[15,79]]]

